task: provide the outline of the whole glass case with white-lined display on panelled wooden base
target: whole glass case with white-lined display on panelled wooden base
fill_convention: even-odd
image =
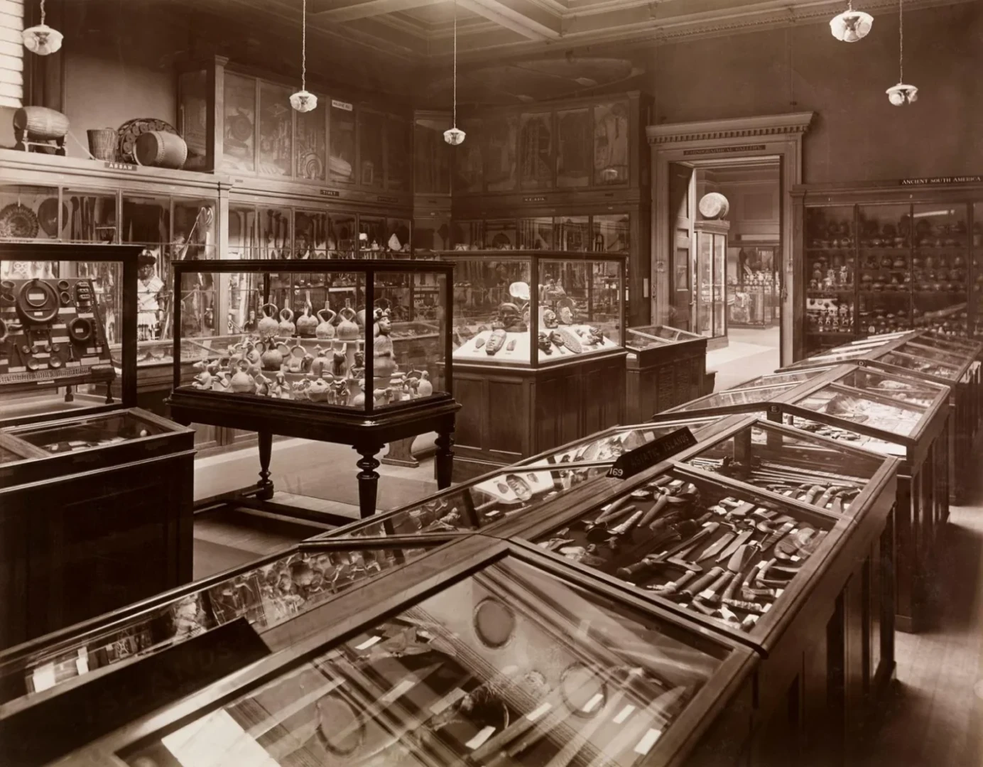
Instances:
[[[623,421],[624,257],[445,251],[466,479]]]

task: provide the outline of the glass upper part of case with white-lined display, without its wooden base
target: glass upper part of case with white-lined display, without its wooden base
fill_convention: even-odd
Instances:
[[[455,266],[453,358],[542,367],[624,346],[624,257],[449,251]]]

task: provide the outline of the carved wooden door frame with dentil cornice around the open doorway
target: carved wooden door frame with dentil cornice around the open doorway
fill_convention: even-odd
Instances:
[[[665,324],[668,310],[667,273],[671,261],[668,221],[668,165],[710,159],[778,156],[781,163],[781,364],[792,360],[792,307],[802,289],[792,278],[791,190],[802,183],[802,137],[815,112],[737,117],[691,123],[665,123],[646,128],[652,149],[652,322]],[[670,231],[667,231],[669,229]]]

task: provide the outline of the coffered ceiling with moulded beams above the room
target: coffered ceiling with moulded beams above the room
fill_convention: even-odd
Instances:
[[[200,37],[221,30],[235,41],[223,51],[233,60],[295,76],[302,0],[179,2],[199,20]],[[963,2],[981,0],[904,0],[904,7]],[[897,13],[897,0],[855,5],[875,18]],[[446,101],[456,13],[461,101],[523,103],[638,88],[632,81],[644,74],[653,44],[823,23],[845,7],[846,0],[307,0],[308,71],[316,80]]]

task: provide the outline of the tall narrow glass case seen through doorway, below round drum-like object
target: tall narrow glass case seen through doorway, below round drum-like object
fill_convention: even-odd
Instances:
[[[727,334],[726,254],[728,221],[696,221],[693,260],[693,317],[695,332],[707,338]]]

